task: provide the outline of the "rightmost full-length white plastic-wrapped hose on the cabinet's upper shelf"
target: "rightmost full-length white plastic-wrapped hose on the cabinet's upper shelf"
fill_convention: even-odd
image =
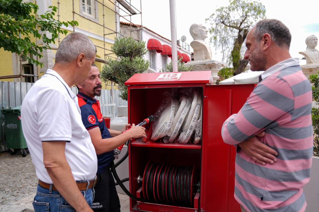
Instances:
[[[177,139],[178,143],[181,143],[181,144],[189,143],[189,140],[192,134],[194,133],[198,117],[201,113],[201,108],[202,108],[202,96],[198,95],[197,91],[194,91],[192,107],[189,111],[188,118],[183,127],[183,131],[178,136],[178,139]]]

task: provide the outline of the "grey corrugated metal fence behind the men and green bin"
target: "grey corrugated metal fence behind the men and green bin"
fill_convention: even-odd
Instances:
[[[22,104],[26,93],[30,90],[34,83],[26,82],[6,82],[0,81],[0,109],[10,109]],[[73,93],[77,94],[78,89],[75,86],[71,87]],[[103,116],[117,116],[117,106],[127,106],[127,101],[121,99],[118,90],[113,90],[114,103],[112,104],[111,90],[102,89],[100,97],[96,97],[100,101],[100,109]],[[113,114],[114,107],[114,114]],[[0,152],[6,151],[4,141],[4,115],[0,114]]]

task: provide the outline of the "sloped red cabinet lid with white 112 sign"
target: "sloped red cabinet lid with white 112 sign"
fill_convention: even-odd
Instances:
[[[134,74],[125,85],[213,83],[211,71]]]

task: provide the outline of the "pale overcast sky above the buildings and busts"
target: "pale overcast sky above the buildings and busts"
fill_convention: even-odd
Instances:
[[[127,0],[129,2],[129,0]],[[186,43],[190,44],[192,37],[189,26],[193,23],[205,24],[215,9],[227,6],[228,0],[176,0],[177,39],[186,36]],[[266,8],[267,18],[276,18],[289,28],[292,34],[290,54],[292,57],[302,58],[299,51],[306,50],[305,39],[309,35],[319,37],[319,3],[314,0],[261,0]],[[131,0],[131,4],[140,10],[140,0]],[[122,12],[121,12],[122,14]],[[126,17],[129,19],[129,17]],[[132,22],[141,24],[140,15],[131,16]],[[122,21],[126,21],[122,19]],[[169,0],[142,0],[142,24],[156,33],[171,39]],[[206,24],[208,27],[208,24]],[[210,35],[209,35],[210,37]],[[206,38],[209,43],[209,38]],[[317,49],[319,47],[317,46]],[[220,50],[211,45],[214,60],[221,61]],[[301,61],[301,65],[305,60]]]

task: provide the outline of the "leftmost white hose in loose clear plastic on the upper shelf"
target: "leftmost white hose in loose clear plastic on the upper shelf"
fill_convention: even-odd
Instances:
[[[179,101],[175,97],[167,97],[154,114],[151,140],[155,141],[167,135],[174,120],[175,111]]]

